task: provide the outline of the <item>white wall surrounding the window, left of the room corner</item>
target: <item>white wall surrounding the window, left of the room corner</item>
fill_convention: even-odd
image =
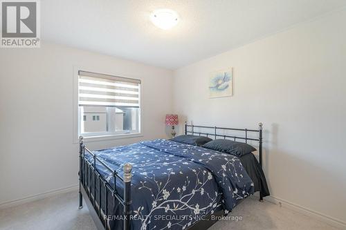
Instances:
[[[0,204],[78,184],[73,144],[73,66],[142,80],[143,137],[89,142],[90,148],[167,137],[172,71],[55,44],[0,50]]]

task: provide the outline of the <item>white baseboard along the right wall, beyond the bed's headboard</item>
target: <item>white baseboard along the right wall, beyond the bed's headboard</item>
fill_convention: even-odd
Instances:
[[[302,207],[298,204],[293,204],[292,202],[289,202],[287,200],[283,200],[280,198],[275,198],[273,196],[267,196],[264,198],[264,200],[267,200],[268,202],[271,202],[273,204],[278,204],[282,207],[286,207],[287,209],[291,209],[293,211],[297,211],[299,213],[302,213],[304,215],[307,215],[311,218],[315,218],[317,220],[320,220],[322,222],[325,222],[327,224],[330,224],[334,227],[340,228],[340,229],[346,229],[346,222],[343,222],[342,220],[338,220],[336,218],[332,218],[329,215],[325,215],[322,213],[319,213],[318,211],[313,211],[311,209],[308,209],[306,207]]]

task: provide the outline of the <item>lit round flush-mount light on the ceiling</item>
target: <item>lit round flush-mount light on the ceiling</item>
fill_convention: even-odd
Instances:
[[[178,14],[169,9],[155,10],[150,15],[150,20],[155,26],[163,30],[169,30],[178,23]]]

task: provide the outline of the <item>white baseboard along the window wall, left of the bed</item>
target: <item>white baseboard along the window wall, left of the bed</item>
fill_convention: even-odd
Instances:
[[[12,200],[12,201],[9,201],[9,202],[4,202],[2,204],[0,204],[0,209],[7,209],[7,208],[10,208],[10,207],[15,207],[17,205],[20,205],[20,204],[26,204],[28,202],[33,202],[35,200],[42,200],[44,198],[49,198],[49,197],[52,197],[54,195],[59,195],[59,194],[62,194],[62,193],[67,193],[69,191],[78,191],[78,184],[75,184],[73,186],[68,186],[66,188],[62,188],[62,189],[55,189],[55,190],[52,190],[52,191],[48,191],[46,193],[41,193],[41,194],[37,194],[37,195],[30,195],[26,198],[21,198],[21,199],[18,199],[18,200]]]

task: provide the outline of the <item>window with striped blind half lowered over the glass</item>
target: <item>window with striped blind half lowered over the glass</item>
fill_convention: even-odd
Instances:
[[[140,80],[79,71],[78,135],[131,133],[140,133]]]

